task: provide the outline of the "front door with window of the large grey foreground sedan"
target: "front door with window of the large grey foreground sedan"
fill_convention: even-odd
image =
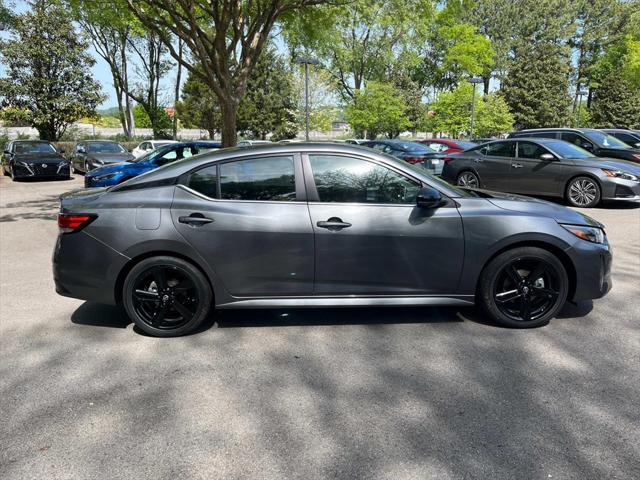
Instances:
[[[454,293],[464,257],[454,202],[416,206],[421,183],[371,159],[303,155],[315,295]]]

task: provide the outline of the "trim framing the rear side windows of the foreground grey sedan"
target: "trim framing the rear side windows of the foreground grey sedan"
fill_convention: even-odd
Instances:
[[[295,190],[296,190],[296,199],[292,200],[290,202],[284,202],[282,200],[239,200],[239,199],[231,199],[231,198],[211,198],[206,196],[203,193],[198,192],[197,190],[194,190],[193,188],[189,187],[187,182],[189,181],[189,177],[191,175],[193,175],[194,173],[203,170],[205,168],[209,168],[211,166],[216,167],[216,178],[217,178],[217,187],[216,187],[216,195],[218,195],[218,197],[222,196],[222,188],[221,188],[221,184],[220,184],[220,166],[225,164],[225,163],[233,163],[233,162],[242,162],[242,161],[246,161],[246,160],[257,160],[257,159],[263,159],[263,158],[269,158],[269,157],[278,157],[278,158],[282,158],[282,157],[291,157],[293,159],[293,174],[294,174],[294,182],[295,182]],[[303,178],[303,173],[302,173],[302,165],[301,165],[301,160],[300,160],[300,153],[298,152],[290,152],[290,153],[270,153],[270,154],[263,154],[263,155],[252,155],[252,156],[248,156],[248,157],[240,157],[240,158],[226,158],[226,159],[222,159],[222,160],[216,160],[214,162],[210,162],[210,163],[206,163],[203,165],[198,165],[196,168],[193,168],[191,170],[189,170],[188,172],[183,173],[182,175],[180,175],[180,177],[178,177],[178,181],[177,181],[177,185],[179,187],[182,187],[183,189],[187,190],[190,193],[193,193],[194,195],[197,195],[205,200],[209,200],[212,202],[241,202],[241,203],[274,203],[277,205],[291,205],[291,204],[301,204],[307,203],[307,199],[306,199],[306,191],[305,191],[305,185],[304,185],[304,178]]]

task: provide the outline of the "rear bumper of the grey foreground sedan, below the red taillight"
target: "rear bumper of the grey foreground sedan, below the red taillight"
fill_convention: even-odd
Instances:
[[[116,303],[118,273],[129,258],[84,231],[58,235],[53,251],[56,292],[65,297]]]

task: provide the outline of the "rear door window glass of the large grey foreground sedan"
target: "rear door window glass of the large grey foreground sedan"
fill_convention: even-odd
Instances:
[[[220,165],[220,195],[227,200],[296,200],[292,157],[267,157]]]

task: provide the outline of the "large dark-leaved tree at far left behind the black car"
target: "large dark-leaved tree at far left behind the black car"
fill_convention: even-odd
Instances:
[[[58,140],[67,127],[91,116],[103,101],[91,76],[95,60],[87,43],[53,0],[35,0],[31,11],[15,17],[13,34],[0,41],[6,77],[0,79],[3,106],[25,110],[44,140]]]

